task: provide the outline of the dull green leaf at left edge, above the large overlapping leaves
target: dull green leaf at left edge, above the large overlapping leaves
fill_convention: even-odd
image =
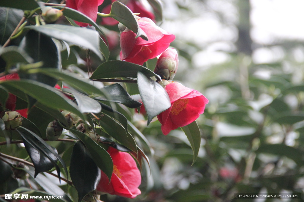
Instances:
[[[33,63],[34,60],[18,46],[9,46],[0,49],[0,55],[6,62],[7,66],[16,65],[17,63]]]

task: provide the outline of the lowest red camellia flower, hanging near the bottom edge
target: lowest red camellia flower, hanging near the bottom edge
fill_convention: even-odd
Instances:
[[[109,147],[107,151],[114,166],[111,181],[109,183],[108,177],[101,171],[101,180],[96,190],[127,198],[135,198],[141,194],[138,189],[141,183],[140,171],[133,157],[113,147]]]

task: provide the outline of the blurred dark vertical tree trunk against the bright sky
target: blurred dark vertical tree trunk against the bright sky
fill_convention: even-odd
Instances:
[[[251,56],[252,54],[252,40],[250,37],[250,0],[238,0],[237,5],[239,7],[239,25],[237,49],[239,53]]]

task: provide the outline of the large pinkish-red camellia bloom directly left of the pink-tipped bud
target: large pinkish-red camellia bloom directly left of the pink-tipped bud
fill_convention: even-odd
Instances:
[[[135,38],[136,34],[125,28],[120,34],[120,59],[143,65],[148,59],[164,52],[175,36],[155,25],[149,18],[139,18],[137,21],[149,40]]]

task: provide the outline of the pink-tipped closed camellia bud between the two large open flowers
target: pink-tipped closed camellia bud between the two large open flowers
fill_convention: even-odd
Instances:
[[[178,54],[174,48],[167,49],[158,58],[154,73],[162,79],[172,80],[178,68]]]

